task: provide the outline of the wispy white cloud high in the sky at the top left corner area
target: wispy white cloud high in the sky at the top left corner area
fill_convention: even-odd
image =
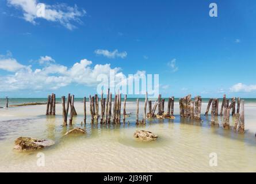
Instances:
[[[78,10],[77,5],[74,7],[67,6],[64,3],[58,3],[56,5],[45,5],[45,13],[43,16],[37,16],[37,0],[7,0],[8,5],[14,6],[17,9],[23,11],[24,20],[36,24],[37,18],[43,18],[44,20],[51,22],[59,22],[67,29],[76,28],[72,22],[81,23],[79,19],[86,14],[85,10]]]

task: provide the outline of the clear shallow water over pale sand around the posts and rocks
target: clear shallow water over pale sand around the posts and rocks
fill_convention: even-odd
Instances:
[[[256,171],[255,104],[245,106],[247,132],[244,135],[211,127],[211,116],[203,122],[188,121],[178,116],[175,120],[152,120],[146,125],[135,125],[135,103],[128,102],[128,124],[91,125],[83,121],[83,104],[75,103],[78,116],[72,127],[86,129],[86,135],[68,136],[72,127],[62,126],[62,107],[56,105],[56,116],[45,116],[45,105],[0,109],[0,171],[64,171],[64,172],[198,172],[198,171]],[[202,104],[205,112],[207,104]],[[140,104],[142,119],[143,103]],[[87,110],[89,106],[87,106]],[[87,111],[89,114],[89,111]],[[234,118],[231,118],[234,125]],[[152,131],[159,139],[150,143],[133,138],[137,129]],[[52,139],[56,144],[37,152],[13,151],[17,137],[29,136]],[[45,166],[37,166],[37,154],[45,155]],[[217,167],[209,166],[209,154],[217,154]]]

